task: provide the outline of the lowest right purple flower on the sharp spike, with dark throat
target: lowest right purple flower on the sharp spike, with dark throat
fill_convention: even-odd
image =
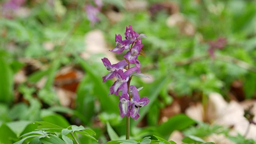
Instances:
[[[149,102],[149,99],[147,97],[140,98],[136,86],[130,86],[130,88],[132,90],[132,105],[130,107],[130,116],[134,118],[134,120],[137,120],[140,117],[139,108],[146,106]]]

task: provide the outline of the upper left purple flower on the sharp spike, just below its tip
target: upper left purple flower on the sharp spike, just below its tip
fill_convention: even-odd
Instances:
[[[127,50],[129,48],[130,44],[128,42],[128,40],[122,41],[122,36],[118,34],[118,36],[116,35],[116,47],[110,51],[121,54],[124,50]]]

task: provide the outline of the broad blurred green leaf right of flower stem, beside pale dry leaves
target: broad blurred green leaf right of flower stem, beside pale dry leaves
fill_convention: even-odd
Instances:
[[[167,138],[174,130],[183,130],[194,124],[195,121],[185,114],[177,114],[171,117],[167,122],[162,123],[157,131]]]

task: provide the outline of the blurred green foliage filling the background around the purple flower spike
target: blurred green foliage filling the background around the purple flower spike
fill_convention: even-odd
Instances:
[[[7,1],[0,2],[1,10]],[[14,12],[12,18],[0,16],[0,143],[12,144],[22,140],[20,136],[36,132],[34,130],[41,123],[33,124],[35,121],[49,122],[62,129],[71,128],[71,124],[94,127],[99,121],[102,126],[92,128],[96,132],[94,137],[78,134],[78,141],[97,144],[124,139],[125,126],[119,116],[118,98],[107,96],[112,82],[102,83],[106,70],[99,61],[104,54],[95,54],[87,60],[80,57],[80,53],[87,48],[84,35],[94,29],[103,32],[108,46],[112,48],[115,46],[115,34],[124,36],[128,25],[148,36],[142,40],[147,56],[139,60],[142,73],[150,74],[153,82],[148,84],[140,78],[133,78],[133,82],[144,87],[140,95],[148,96],[150,103],[140,110],[141,118],[131,122],[131,138],[136,141],[130,143],[175,144],[164,140],[173,130],[185,130],[187,137],[184,142],[204,143],[201,138],[220,132],[221,127],[218,126],[202,124],[193,127],[196,122],[183,114],[158,124],[160,109],[172,103],[170,92],[175,96],[219,92],[228,99],[232,82],[239,80],[243,84],[244,99],[255,96],[255,0],[167,0],[171,8],[178,8],[176,13],[184,19],[184,23],[174,26],[168,26],[168,8],[150,13],[151,6],[166,0],[140,1],[146,2],[146,8],[129,10],[125,0],[103,0],[100,22],[94,25],[87,20],[84,11],[90,0],[87,3],[83,0],[56,0],[53,4],[50,0],[27,0],[22,6],[28,10],[25,15]],[[116,23],[106,15],[111,8],[122,14]],[[192,34],[184,33],[184,29],[189,28],[186,24],[194,28]],[[225,38],[227,43],[222,49],[216,49],[212,58],[208,53],[209,42],[218,38]],[[52,49],[45,48],[47,43],[52,44]],[[39,69],[27,74],[25,82],[15,83],[15,74],[26,66],[24,59],[35,60]],[[56,73],[66,65],[77,66],[84,71],[76,90],[74,109],[61,106],[54,90]],[[38,89],[36,83],[42,78],[46,78],[46,83]],[[16,99],[17,93],[22,95],[22,100]],[[137,125],[145,120],[143,117],[147,127],[138,128]],[[226,134],[226,130],[220,133]],[[47,134],[61,143],[75,142],[71,136],[62,137],[63,134],[57,131]],[[162,138],[154,139],[154,135]],[[40,136],[31,139],[31,143],[39,142]],[[150,139],[146,136],[152,140],[148,141]],[[146,138],[142,140],[143,137]],[[99,142],[94,141],[95,138]],[[238,144],[255,143],[242,135],[229,138]],[[42,138],[41,142],[53,143],[46,138]]]

